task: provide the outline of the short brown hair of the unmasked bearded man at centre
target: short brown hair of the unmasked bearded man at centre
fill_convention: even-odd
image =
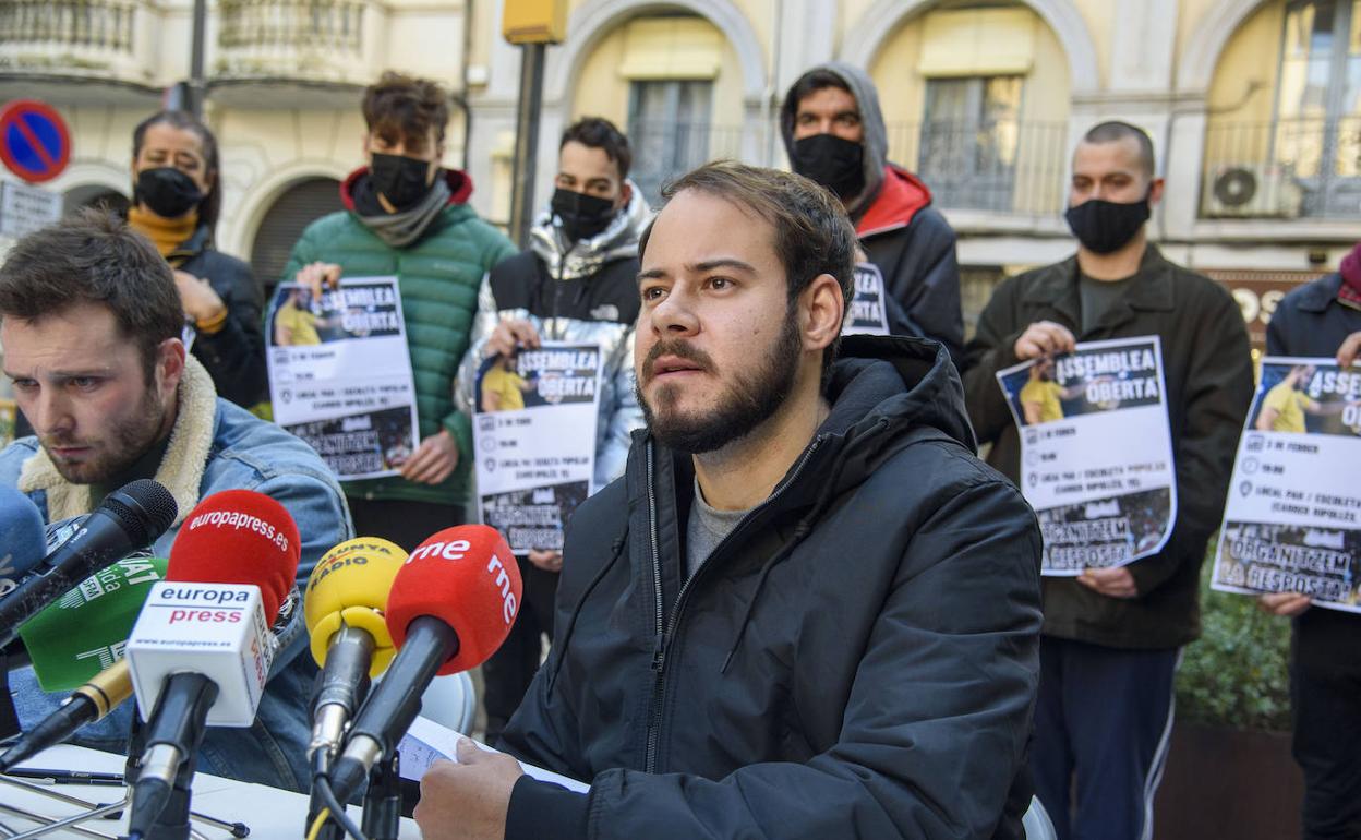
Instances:
[[[788,304],[803,294],[813,280],[830,274],[841,286],[845,308],[842,320],[855,297],[856,236],[841,201],[823,187],[792,172],[747,166],[734,161],[706,163],[667,184],[663,199],[672,199],[687,189],[729,201],[761,216],[774,227],[774,251],[784,265],[788,283]],[[638,253],[648,249],[652,225],[638,240]],[[822,378],[841,347],[837,338],[822,354]]]

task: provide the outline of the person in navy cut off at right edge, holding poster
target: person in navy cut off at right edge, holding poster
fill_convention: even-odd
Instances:
[[[1361,245],[1342,259],[1337,274],[1285,295],[1267,325],[1267,354],[1332,357],[1338,368],[1356,370],[1361,362]],[[1354,464],[1331,468],[1356,479]],[[1260,595],[1259,603],[1267,613],[1293,618],[1292,752],[1304,772],[1302,836],[1358,839],[1361,615],[1311,609],[1309,596],[1297,592]]]

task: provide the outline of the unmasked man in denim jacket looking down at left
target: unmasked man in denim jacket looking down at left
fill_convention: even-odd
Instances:
[[[280,502],[302,538],[299,576],[354,535],[335,478],[304,442],[216,396],[181,342],[182,306],[155,248],[110,216],[88,212],[22,240],[0,267],[0,344],[15,399],[37,436],[0,452],[0,483],[18,487],[49,523],[93,511],[137,478],[154,478],[178,516],[152,546],[167,557],[204,497],[245,489]],[[223,557],[222,562],[231,562]],[[308,701],[316,666],[297,589],[275,633],[280,648],[249,730],[210,728],[199,769],[306,790]],[[60,702],[31,670],[11,674],[19,720],[31,728]],[[80,731],[82,746],[124,752],[133,704]]]

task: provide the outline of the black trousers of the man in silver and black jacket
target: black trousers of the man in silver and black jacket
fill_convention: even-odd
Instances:
[[[482,702],[487,709],[487,743],[491,745],[495,745],[501,730],[529,690],[543,659],[543,637],[553,640],[553,602],[558,595],[558,573],[544,572],[524,557],[517,560],[524,581],[520,614],[516,615],[505,644],[482,664]]]

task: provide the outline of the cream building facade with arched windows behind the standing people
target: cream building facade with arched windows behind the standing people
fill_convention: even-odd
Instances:
[[[508,0],[216,0],[207,120],[223,154],[219,246],[272,283],[361,159],[359,91],[384,68],[455,95],[446,161],[510,211],[520,52]],[[514,1],[514,0],[509,0]],[[0,101],[48,99],[75,135],[68,206],[129,192],[132,127],[188,76],[192,0],[0,0]],[[966,320],[1007,272],[1072,249],[1068,159],[1106,118],[1154,139],[1154,238],[1226,282],[1255,332],[1283,289],[1361,230],[1361,0],[572,0],[548,48],[538,206],[557,138],[600,114],[661,184],[715,158],[783,166],[776,114],[810,65],[879,87],[890,157],[960,233]]]

